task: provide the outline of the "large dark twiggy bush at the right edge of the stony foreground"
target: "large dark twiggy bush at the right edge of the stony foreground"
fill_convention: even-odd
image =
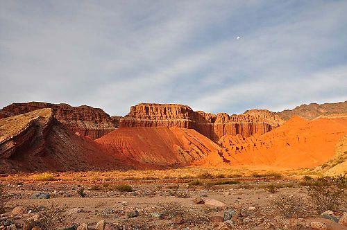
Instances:
[[[346,199],[347,177],[321,177],[307,187],[308,194],[319,212],[335,211]]]

